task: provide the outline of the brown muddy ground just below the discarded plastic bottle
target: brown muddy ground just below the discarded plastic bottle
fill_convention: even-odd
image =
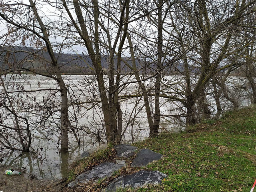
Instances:
[[[62,191],[62,183],[54,180],[38,180],[27,173],[4,175],[9,167],[0,166],[0,191],[3,192],[47,192]]]

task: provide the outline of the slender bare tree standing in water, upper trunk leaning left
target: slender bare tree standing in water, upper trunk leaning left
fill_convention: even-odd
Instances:
[[[3,20],[8,22],[11,27],[31,33],[45,43],[46,50],[50,56],[52,64],[51,74],[48,76],[56,80],[60,88],[62,103],[60,110],[61,149],[68,150],[68,101],[66,86],[62,79],[62,73],[60,72],[60,66],[58,65],[58,61],[54,55],[52,44],[49,40],[49,31],[42,21],[41,16],[38,14],[35,3],[33,1],[29,2],[30,5],[23,4],[22,2],[16,2],[10,5],[4,4],[2,6],[5,9],[4,12],[0,12],[0,16]],[[29,13],[30,17],[28,18],[28,21],[32,21],[32,24],[27,24],[22,20],[22,17],[18,15],[20,11],[19,9],[24,10],[27,14]]]

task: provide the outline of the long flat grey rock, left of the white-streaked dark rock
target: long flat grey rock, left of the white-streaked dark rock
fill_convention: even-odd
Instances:
[[[77,184],[83,183],[86,184],[89,181],[93,181],[97,183],[99,179],[103,179],[105,177],[110,177],[115,171],[120,168],[126,166],[125,161],[118,161],[118,164],[106,162],[101,163],[92,170],[86,171],[76,177],[74,181],[68,184],[69,187],[74,187]]]

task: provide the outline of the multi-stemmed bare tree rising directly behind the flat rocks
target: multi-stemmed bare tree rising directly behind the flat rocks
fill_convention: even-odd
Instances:
[[[111,2],[111,4],[114,3]],[[99,3],[98,0],[92,2],[62,0],[62,3],[56,4],[56,7],[63,5],[69,22],[74,26],[81,44],[86,47],[92,60],[104,115],[106,139],[114,144],[120,143],[122,132],[122,111],[118,102],[118,94],[120,92],[121,54],[128,29],[129,4],[129,0],[117,2],[115,6],[110,6],[110,2]],[[75,10],[75,16],[72,9]],[[118,25],[107,20],[108,17],[114,17]],[[108,87],[106,87],[104,78],[102,55],[108,55]],[[117,66],[114,62],[116,56]]]

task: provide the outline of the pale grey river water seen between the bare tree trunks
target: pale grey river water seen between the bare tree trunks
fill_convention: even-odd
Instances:
[[[59,150],[59,123],[58,105],[60,95],[57,90],[58,85],[55,80],[38,75],[7,75],[3,77],[5,86],[16,112],[20,116],[28,118],[32,130],[31,152],[11,152],[1,150],[0,164],[10,166],[16,170],[25,170],[26,174],[35,176],[38,179],[58,179],[67,176],[68,165],[74,161],[84,150],[90,150],[98,146],[98,138],[93,133],[99,133],[104,138],[102,125],[102,114],[98,103],[99,93],[96,91],[96,81],[93,76],[88,75],[63,75],[64,81],[69,91],[70,120],[72,126],[79,128],[79,138],[81,145],[78,146],[72,133],[69,134],[70,150],[66,153]],[[126,77],[124,82],[134,81],[134,76]],[[168,84],[175,84],[177,77],[166,76],[163,82],[166,87]],[[144,82],[148,89],[152,88],[153,82]],[[4,92],[3,86],[2,93]],[[179,88],[178,86],[176,88]],[[167,89],[167,88],[166,88]],[[17,92],[26,90],[28,92]],[[41,91],[35,91],[41,90]],[[31,92],[33,91],[33,92]],[[138,87],[128,84],[122,89],[122,95],[136,95]],[[1,95],[1,99],[6,99]],[[242,106],[250,104],[248,99],[240,96]],[[93,102],[92,102],[93,101]],[[213,102],[213,100],[212,100]],[[79,105],[78,105],[79,104]],[[177,104],[161,100],[161,126],[160,131],[175,132],[184,130],[182,118],[173,121],[168,116],[177,115],[174,109]],[[123,99],[121,101],[123,113],[123,143],[131,143],[143,140],[148,137],[149,130],[146,113],[143,108],[142,98]],[[180,110],[182,111],[182,110]],[[8,117],[7,111],[2,111],[1,116],[6,118],[4,123],[12,124],[12,118]],[[48,116],[46,119],[45,117]],[[134,116],[136,116],[134,118]],[[184,120],[184,119],[183,119]],[[104,142],[104,139],[101,143]]]

